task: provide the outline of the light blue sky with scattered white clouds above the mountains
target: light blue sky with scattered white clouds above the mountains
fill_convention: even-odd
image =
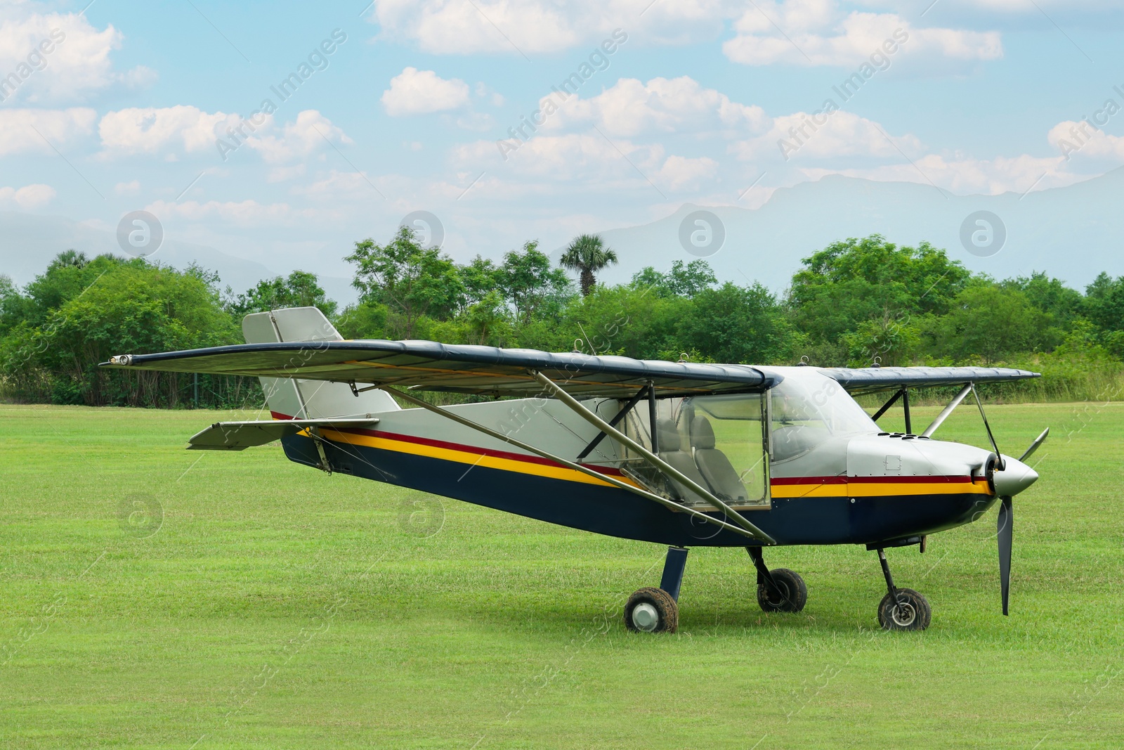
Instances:
[[[277,272],[350,275],[416,211],[466,261],[827,174],[1124,163],[1104,0],[87,2],[0,0],[0,210],[144,210]]]

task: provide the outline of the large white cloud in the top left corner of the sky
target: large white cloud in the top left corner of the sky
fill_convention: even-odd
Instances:
[[[98,29],[75,13],[9,16],[0,21],[4,101],[81,101],[115,84],[139,87],[156,78],[144,66],[114,70],[110,53],[124,37],[111,25]]]

